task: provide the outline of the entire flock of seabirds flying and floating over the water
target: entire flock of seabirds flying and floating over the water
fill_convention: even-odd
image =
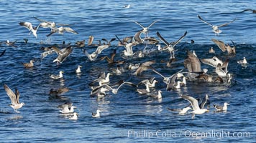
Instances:
[[[255,10],[251,9],[246,9],[244,11],[252,11],[253,13],[255,13]],[[37,17],[34,18],[37,19],[37,21],[40,21],[40,24],[38,24],[37,26],[32,26],[32,23],[27,21],[19,22],[19,25],[29,29],[29,34],[32,33],[35,38],[37,38],[37,30],[39,28],[50,30],[49,34],[47,34],[46,36],[51,36],[55,33],[64,34],[65,32],[78,34],[77,31],[71,29],[70,27],[67,27],[75,24],[55,24],[54,21],[46,21],[38,19]],[[216,38],[219,36],[219,34],[221,34],[221,30],[219,28],[221,28],[222,26],[227,26],[229,24],[230,26],[232,26],[232,23],[236,21],[236,19],[233,19],[226,24],[213,25],[208,21],[202,19],[199,15],[198,19],[211,26],[212,30],[216,35]],[[234,41],[232,41],[233,46],[230,46],[229,44],[224,44],[224,41],[221,41],[219,39],[211,39],[211,41],[213,41],[214,44],[216,44],[216,46],[218,46],[219,49],[223,52],[222,54],[225,54],[225,59],[224,56],[221,57],[220,54],[217,55],[213,47],[211,47],[208,51],[209,54],[212,55],[212,58],[209,59],[204,58],[203,55],[198,56],[196,54],[196,51],[186,49],[187,57],[183,61],[183,69],[175,71],[175,74],[164,76],[161,73],[162,70],[155,68],[154,65],[157,63],[156,60],[149,60],[140,63],[140,61],[137,59],[150,57],[151,54],[157,54],[159,52],[167,52],[170,53],[170,57],[163,58],[163,63],[166,63],[163,68],[171,69],[177,61],[177,56],[179,56],[175,54],[175,52],[178,50],[175,49],[175,46],[186,37],[188,31],[184,31],[184,34],[180,34],[180,38],[178,38],[176,41],[168,42],[164,38],[164,35],[162,36],[159,31],[155,31],[157,35],[156,38],[149,36],[150,27],[152,27],[155,23],[160,22],[161,20],[157,19],[153,21],[149,26],[143,26],[138,21],[131,21],[134,22],[134,24],[139,25],[140,28],[142,28],[140,31],[137,31],[137,33],[135,33],[133,36],[126,36],[123,39],[120,39],[118,35],[115,35],[115,38],[112,38],[110,40],[103,38],[99,40],[97,44],[93,44],[94,37],[91,35],[88,37],[88,44],[86,44],[86,40],[83,40],[76,41],[76,44],[65,44],[63,42],[62,46],[54,45],[49,47],[42,47],[40,60],[42,61],[46,56],[55,53],[56,56],[52,62],[55,62],[57,66],[65,66],[65,64],[63,64],[65,59],[67,59],[68,56],[73,53],[73,50],[77,49],[83,51],[84,56],[87,57],[86,62],[101,62],[102,64],[105,64],[106,62],[104,60],[106,60],[108,69],[106,69],[105,71],[109,72],[99,73],[99,77],[93,79],[88,84],[88,89],[91,90],[90,96],[92,98],[96,97],[97,99],[102,99],[108,94],[118,94],[118,91],[120,89],[126,87],[129,87],[129,89],[134,89],[138,96],[147,96],[152,99],[162,99],[164,98],[162,97],[163,91],[157,89],[157,84],[160,83],[165,84],[167,92],[169,92],[170,90],[180,91],[180,89],[183,89],[183,87],[189,86],[188,83],[197,84],[205,82],[208,84],[232,84],[232,71],[228,70],[228,65],[229,60],[231,60],[232,57],[237,54]],[[118,44],[116,46],[112,46],[112,41],[118,41]],[[17,46],[15,45],[15,42],[16,41],[6,41],[4,43],[8,46],[16,48]],[[27,42],[28,41],[26,39],[25,43]],[[142,47],[142,49],[134,52],[134,46],[140,46]],[[93,51],[90,54],[88,52],[88,49],[93,48],[96,48],[96,51]],[[120,53],[117,53],[116,49],[122,48],[124,50]],[[102,56],[102,51],[106,51],[108,49],[112,49],[113,51],[110,56]],[[0,56],[3,56],[4,52],[5,50],[2,51]],[[116,55],[119,55],[119,59],[116,59]],[[132,59],[133,62],[127,59]],[[130,61],[130,63],[127,63],[127,61]],[[31,59],[29,63],[24,63],[23,66],[25,69],[33,68],[35,66],[34,62],[35,61]],[[212,66],[214,68],[214,71],[209,72],[208,69],[201,69],[201,64]],[[247,59],[244,57],[240,61],[237,61],[237,64],[246,66],[248,62]],[[81,75],[81,73],[83,73],[82,67],[83,66],[78,65],[77,69],[74,69],[74,71],[76,71],[76,74]],[[151,77],[150,79],[144,79],[138,83],[129,81],[129,79],[120,79],[118,82],[111,81],[112,77],[118,77],[121,74],[126,74],[127,76],[132,76],[136,78],[142,77],[145,72],[158,75],[159,77]],[[58,75],[51,74],[49,78],[52,78],[54,80],[61,80],[65,78],[65,72],[59,71]],[[160,80],[157,81],[157,79],[160,78],[163,79],[163,82]],[[6,84],[4,84],[4,89],[6,91],[6,94],[12,101],[10,107],[12,107],[15,112],[19,113],[17,109],[22,108],[24,103],[19,102],[20,94],[18,89],[16,88],[14,93],[12,92],[12,89],[10,89]],[[70,89],[68,88],[60,88],[57,90],[50,89],[49,95],[52,98],[56,98],[60,94],[64,94],[69,90]],[[177,98],[187,100],[189,102],[189,105],[187,107],[183,107],[182,109],[168,109],[171,112],[178,112],[179,115],[192,113],[192,118],[195,118],[196,114],[204,114],[205,112],[209,112],[210,97],[211,95],[206,94],[206,97],[204,97],[204,99],[196,99],[195,97],[185,95],[180,92]],[[214,107],[217,112],[227,112],[227,105],[229,105],[229,103],[224,102],[224,106],[213,104],[212,107]],[[75,112],[75,109],[77,107],[73,106],[72,102],[65,102],[59,105],[58,108],[60,109],[60,114],[65,114],[68,119],[78,119],[78,113]],[[188,113],[188,110],[192,110],[192,112]],[[91,117],[101,117],[100,113],[101,110],[97,109],[96,113],[92,112]]]

